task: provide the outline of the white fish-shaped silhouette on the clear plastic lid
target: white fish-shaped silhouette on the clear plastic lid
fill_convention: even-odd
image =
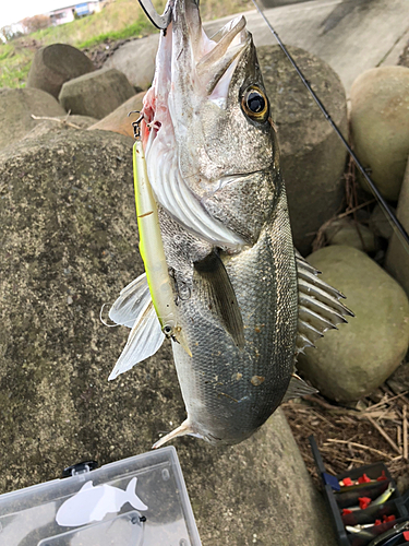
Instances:
[[[94,487],[93,482],[88,480],[60,506],[56,521],[61,526],[86,525],[103,521],[108,513],[119,512],[127,502],[135,510],[148,509],[136,495],[136,477],[129,482],[127,490],[108,484]]]

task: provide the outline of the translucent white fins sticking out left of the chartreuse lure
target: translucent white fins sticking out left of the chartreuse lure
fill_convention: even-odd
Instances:
[[[133,324],[127,345],[108,378],[112,380],[154,355],[165,340],[152,302],[146,275],[141,275],[123,288],[111,307],[109,317],[118,324],[129,328]]]

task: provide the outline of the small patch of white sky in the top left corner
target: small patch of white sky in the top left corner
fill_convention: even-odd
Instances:
[[[0,28],[72,3],[75,0],[1,0]]]

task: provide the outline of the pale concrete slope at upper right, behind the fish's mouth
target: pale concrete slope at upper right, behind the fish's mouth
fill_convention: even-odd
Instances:
[[[325,60],[347,93],[363,71],[395,64],[409,37],[408,0],[312,0],[265,10],[285,44],[302,47]],[[256,46],[275,38],[256,11],[244,13]],[[205,24],[215,33],[231,16]]]

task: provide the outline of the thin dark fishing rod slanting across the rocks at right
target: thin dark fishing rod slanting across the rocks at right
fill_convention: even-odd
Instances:
[[[376,188],[375,183],[372,181],[371,177],[369,176],[366,169],[362,166],[361,162],[358,159],[358,157],[356,156],[356,154],[353,153],[351,146],[348,144],[348,142],[346,141],[346,139],[344,138],[344,134],[340,132],[340,130],[338,129],[337,124],[335,123],[335,121],[332,119],[332,117],[329,116],[329,114],[327,112],[325,106],[323,105],[323,103],[320,100],[320,98],[316,96],[315,92],[312,90],[311,85],[310,85],[310,82],[305,79],[304,74],[302,73],[301,69],[299,68],[299,66],[297,64],[297,62],[294,61],[294,59],[291,57],[290,52],[288,51],[288,49],[286,48],[286,46],[284,45],[284,43],[281,41],[280,37],[278,36],[278,34],[276,33],[276,31],[274,29],[273,25],[270,24],[270,22],[268,21],[268,19],[265,16],[263,10],[258,7],[256,0],[252,0],[253,4],[255,5],[255,9],[257,10],[257,12],[261,14],[261,16],[263,17],[264,22],[266,23],[266,25],[268,26],[268,28],[270,29],[270,32],[273,33],[274,37],[276,38],[278,45],[280,46],[281,50],[284,51],[284,54],[286,55],[287,59],[290,61],[290,63],[292,64],[292,67],[294,68],[296,72],[298,73],[298,75],[300,76],[302,83],[305,85],[305,87],[308,88],[308,91],[310,92],[311,96],[313,97],[313,99],[315,100],[317,107],[320,108],[320,110],[323,112],[325,119],[328,121],[328,123],[332,126],[332,128],[334,129],[334,131],[337,133],[338,138],[340,139],[340,141],[342,142],[344,146],[347,149],[348,153],[350,154],[350,156],[352,157],[354,164],[357,165],[357,167],[359,168],[360,173],[362,174],[362,176],[364,177],[364,179],[366,180],[369,187],[371,188],[371,191],[372,193],[375,195],[377,202],[380,203],[381,205],[381,209],[384,211],[387,219],[389,221],[389,224],[390,226],[393,227],[395,234],[397,235],[398,239],[400,240],[400,242],[402,244],[405,250],[407,251],[407,253],[409,254],[409,236],[405,229],[405,227],[401,225],[401,223],[398,221],[398,218],[396,217],[396,215],[394,214],[394,212],[390,210],[389,205],[387,204],[387,202],[384,200],[384,198],[381,195],[378,189]]]

